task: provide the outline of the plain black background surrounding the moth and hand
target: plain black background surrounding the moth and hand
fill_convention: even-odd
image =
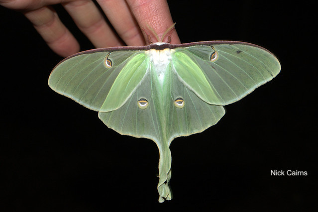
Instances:
[[[1,211],[315,210],[315,6],[304,1],[168,3],[183,43],[251,42],[279,58],[281,73],[226,106],[215,126],[172,142],[174,198],[159,204],[155,143],[119,135],[97,112],[53,92],[47,79],[62,58],[22,14],[0,7]],[[82,50],[94,48],[63,8],[56,9]],[[271,170],[308,175],[271,176]]]

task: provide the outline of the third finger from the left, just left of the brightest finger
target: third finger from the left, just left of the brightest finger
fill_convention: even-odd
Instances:
[[[128,46],[145,45],[144,36],[125,0],[97,0],[119,37]]]

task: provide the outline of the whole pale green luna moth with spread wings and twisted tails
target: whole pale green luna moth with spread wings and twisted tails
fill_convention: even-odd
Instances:
[[[171,141],[199,133],[234,103],[280,72],[268,50],[238,41],[83,51],[62,60],[48,84],[98,111],[120,134],[153,140],[159,148],[159,202],[171,200]]]

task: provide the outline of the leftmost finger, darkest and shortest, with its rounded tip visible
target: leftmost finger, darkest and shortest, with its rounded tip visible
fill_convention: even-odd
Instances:
[[[55,53],[67,57],[79,51],[78,42],[52,8],[43,6],[26,11],[24,15]]]

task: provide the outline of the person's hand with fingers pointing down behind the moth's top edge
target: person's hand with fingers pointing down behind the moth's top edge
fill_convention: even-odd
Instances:
[[[0,0],[0,5],[21,11],[48,46],[67,57],[79,52],[80,44],[58,17],[52,4],[61,3],[78,28],[96,48],[141,46],[157,42],[148,25],[159,38],[173,24],[166,0],[97,0],[110,24],[92,0]],[[148,25],[147,25],[148,24]],[[176,30],[168,34],[172,44],[180,43]],[[164,39],[165,42],[168,39]]]

